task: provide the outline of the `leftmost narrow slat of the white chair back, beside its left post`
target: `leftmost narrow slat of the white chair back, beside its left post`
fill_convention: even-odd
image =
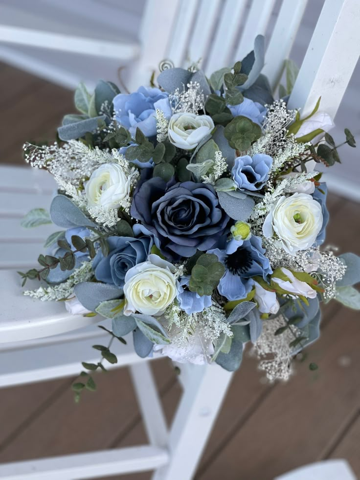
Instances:
[[[169,58],[175,67],[182,67],[188,56],[188,42],[191,36],[191,29],[194,24],[196,12],[198,11],[198,0],[181,0],[179,10],[176,14],[174,30],[169,39],[169,46],[166,57]]]

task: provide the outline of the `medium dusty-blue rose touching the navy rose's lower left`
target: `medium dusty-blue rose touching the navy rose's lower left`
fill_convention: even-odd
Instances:
[[[122,288],[125,274],[138,263],[145,262],[151,247],[152,236],[142,225],[134,225],[134,237],[109,237],[109,254],[104,257],[99,250],[92,268],[97,280]]]

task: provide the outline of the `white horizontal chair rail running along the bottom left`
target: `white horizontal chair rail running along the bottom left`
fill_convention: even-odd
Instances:
[[[76,480],[143,472],[165,465],[165,449],[140,445],[0,465],[2,480]],[[184,477],[181,480],[185,480]]]

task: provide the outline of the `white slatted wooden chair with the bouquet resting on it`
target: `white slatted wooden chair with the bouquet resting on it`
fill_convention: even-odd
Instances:
[[[160,58],[168,56],[180,64],[190,49],[193,59],[206,55],[205,71],[242,58],[251,49],[256,34],[266,31],[274,2],[268,0],[266,8],[262,8],[261,0],[252,2],[244,35],[238,43],[236,24],[245,3],[243,0],[149,1],[148,5],[157,14],[165,4],[171,4],[171,42],[168,55],[160,51]],[[306,0],[297,0],[295,7],[293,0],[282,3],[268,46],[266,66],[274,87],[305,6]],[[359,21],[358,0],[325,1],[289,100],[291,107],[303,107],[307,113],[321,94],[321,108],[335,115],[359,58]],[[149,43],[147,48],[150,52],[155,47]],[[151,56],[147,59],[149,68],[153,68],[153,60]],[[140,77],[138,82],[141,83]],[[96,343],[101,340],[99,329],[93,327],[99,319],[70,317],[61,303],[42,303],[21,294],[16,270],[34,265],[48,228],[23,230],[20,218],[30,208],[48,207],[53,188],[43,171],[0,168],[0,386],[76,375],[80,361],[95,360],[91,358],[91,345],[95,339]],[[143,470],[155,470],[155,480],[193,477],[231,374],[218,366],[182,366],[180,381],[184,391],[168,430],[147,363],[149,359],[137,357],[131,343],[119,344],[115,353],[116,366],[130,367],[149,445],[3,464],[1,479],[70,480]]]

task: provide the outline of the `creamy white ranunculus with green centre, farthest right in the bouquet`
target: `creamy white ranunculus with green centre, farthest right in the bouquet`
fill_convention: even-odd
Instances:
[[[281,197],[272,207],[263,225],[264,236],[274,232],[291,255],[311,247],[322,227],[321,206],[311,195],[294,193]]]

